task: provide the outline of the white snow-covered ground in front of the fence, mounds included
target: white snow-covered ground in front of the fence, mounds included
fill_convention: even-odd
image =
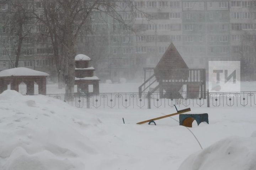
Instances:
[[[191,108],[209,114],[209,125],[190,128],[203,151],[178,115],[136,124],[175,112],[75,108],[7,90],[0,94],[0,170],[256,169],[255,107]]]

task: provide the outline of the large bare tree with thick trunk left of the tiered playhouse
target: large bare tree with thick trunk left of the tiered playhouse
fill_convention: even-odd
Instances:
[[[134,13],[131,1],[123,2]],[[41,6],[33,12],[38,21],[48,28],[47,36],[52,40],[58,78],[67,79],[67,94],[74,92],[76,42],[82,30],[91,26],[93,13],[104,13],[133,30],[120,15],[119,3],[116,0],[41,0]]]

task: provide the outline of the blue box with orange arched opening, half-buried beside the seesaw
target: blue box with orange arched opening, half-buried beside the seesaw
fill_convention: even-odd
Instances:
[[[196,120],[197,125],[199,125],[203,121],[205,121],[209,124],[207,113],[203,113],[203,114],[180,114],[179,119],[180,119],[180,125],[186,126],[186,127],[189,127],[189,128],[192,128],[192,123],[193,123],[194,120]]]

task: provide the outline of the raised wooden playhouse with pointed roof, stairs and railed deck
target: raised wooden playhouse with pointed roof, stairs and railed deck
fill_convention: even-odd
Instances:
[[[149,78],[146,79],[149,73]],[[157,84],[156,86],[154,86]],[[159,90],[160,98],[182,98],[180,90],[186,85],[186,98],[195,98],[200,94],[205,98],[206,70],[190,69],[175,48],[167,48],[155,68],[144,68],[144,83],[139,86],[139,94],[150,94]],[[152,89],[150,87],[154,86]]]

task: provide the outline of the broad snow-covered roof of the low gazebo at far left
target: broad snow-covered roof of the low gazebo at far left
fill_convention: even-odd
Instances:
[[[0,77],[9,76],[49,76],[49,74],[25,67],[11,68],[0,72]]]

